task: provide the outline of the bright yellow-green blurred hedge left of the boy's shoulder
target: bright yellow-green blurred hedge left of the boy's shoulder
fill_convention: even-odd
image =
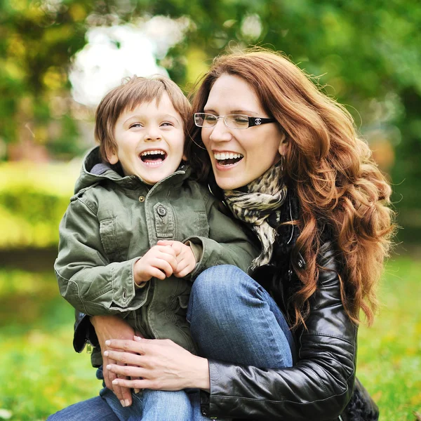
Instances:
[[[72,196],[79,162],[0,166],[0,248],[58,244],[58,225]]]

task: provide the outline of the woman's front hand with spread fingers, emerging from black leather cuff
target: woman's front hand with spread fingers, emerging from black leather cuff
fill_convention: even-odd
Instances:
[[[168,339],[107,340],[109,359],[130,366],[110,363],[107,369],[125,377],[116,378],[113,385],[137,389],[181,390],[194,387],[209,391],[208,360],[195,356]],[[116,351],[118,349],[119,351]]]

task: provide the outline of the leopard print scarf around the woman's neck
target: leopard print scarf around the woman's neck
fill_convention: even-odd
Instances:
[[[286,193],[281,163],[276,163],[266,173],[250,182],[246,186],[246,192],[239,189],[224,190],[225,203],[235,218],[250,224],[262,243],[262,252],[253,260],[252,270],[266,265],[272,257],[276,229],[268,224],[267,218],[282,206]]]

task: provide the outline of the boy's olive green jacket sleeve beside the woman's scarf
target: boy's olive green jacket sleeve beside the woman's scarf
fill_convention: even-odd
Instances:
[[[206,203],[209,235],[190,236],[185,241],[198,244],[201,258],[192,272],[195,278],[204,269],[216,265],[234,265],[247,272],[259,249],[250,233],[241,222],[234,220],[229,210],[224,208],[214,196],[208,194]]]

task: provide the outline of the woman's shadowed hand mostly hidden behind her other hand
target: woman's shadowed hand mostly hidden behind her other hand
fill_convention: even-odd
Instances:
[[[112,383],[112,381],[116,379],[116,373],[109,371],[107,366],[109,366],[109,364],[116,364],[116,361],[109,359],[109,357],[105,355],[105,352],[109,349],[109,347],[105,345],[105,341],[109,338],[132,340],[135,332],[133,328],[131,328],[131,326],[129,326],[128,323],[119,316],[93,316],[91,317],[91,323],[95,328],[98,342],[100,342],[105,386],[116,394],[121,406],[131,406],[131,390],[127,387],[113,385]]]

